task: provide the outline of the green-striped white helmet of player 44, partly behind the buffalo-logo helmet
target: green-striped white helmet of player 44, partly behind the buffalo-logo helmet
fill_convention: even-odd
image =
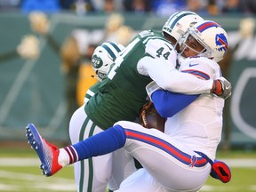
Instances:
[[[165,22],[162,33],[173,36],[179,42],[180,37],[187,32],[189,27],[202,20],[204,19],[196,12],[175,12]]]

